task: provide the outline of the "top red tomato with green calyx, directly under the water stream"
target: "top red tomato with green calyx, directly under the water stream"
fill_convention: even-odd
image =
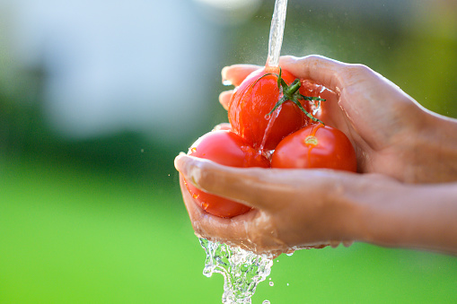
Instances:
[[[263,67],[251,73],[235,89],[228,109],[233,131],[260,150],[275,149],[277,143],[286,135],[309,122],[309,118],[291,101],[283,103],[277,115],[266,117],[282,97],[275,74],[279,74],[279,67]],[[295,80],[293,74],[284,70],[281,76],[289,85]],[[304,86],[300,87],[299,92],[305,96],[312,96],[312,92]],[[299,102],[306,111],[310,111],[308,102]]]

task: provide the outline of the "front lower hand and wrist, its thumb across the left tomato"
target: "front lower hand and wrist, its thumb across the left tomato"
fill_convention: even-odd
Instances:
[[[175,166],[200,238],[271,256],[351,241],[457,254],[457,183],[413,186],[330,169],[240,169],[185,154]],[[183,178],[254,209],[231,219],[206,213]]]

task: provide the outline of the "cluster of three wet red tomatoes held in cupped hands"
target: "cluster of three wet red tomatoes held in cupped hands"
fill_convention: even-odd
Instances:
[[[224,166],[248,168],[327,168],[356,171],[356,152],[341,131],[312,117],[321,101],[312,89],[279,67],[250,74],[233,92],[231,129],[198,139],[189,155]],[[231,218],[250,207],[199,190],[186,182],[195,201],[216,216]]]

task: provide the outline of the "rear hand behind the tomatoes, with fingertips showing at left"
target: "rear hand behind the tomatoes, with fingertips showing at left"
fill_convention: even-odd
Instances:
[[[412,183],[457,180],[455,121],[426,111],[365,65],[321,56],[283,56],[279,64],[296,77],[330,90],[321,96],[327,101],[319,118],[349,137],[356,148],[359,172],[382,173]],[[236,86],[258,68],[225,67],[223,79]],[[220,95],[225,109],[232,93]]]

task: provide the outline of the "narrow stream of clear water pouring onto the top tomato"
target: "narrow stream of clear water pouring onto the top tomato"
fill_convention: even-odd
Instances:
[[[271,19],[268,41],[268,66],[279,65],[279,56],[283,46],[284,28],[286,26],[287,0],[276,0],[275,11]]]

